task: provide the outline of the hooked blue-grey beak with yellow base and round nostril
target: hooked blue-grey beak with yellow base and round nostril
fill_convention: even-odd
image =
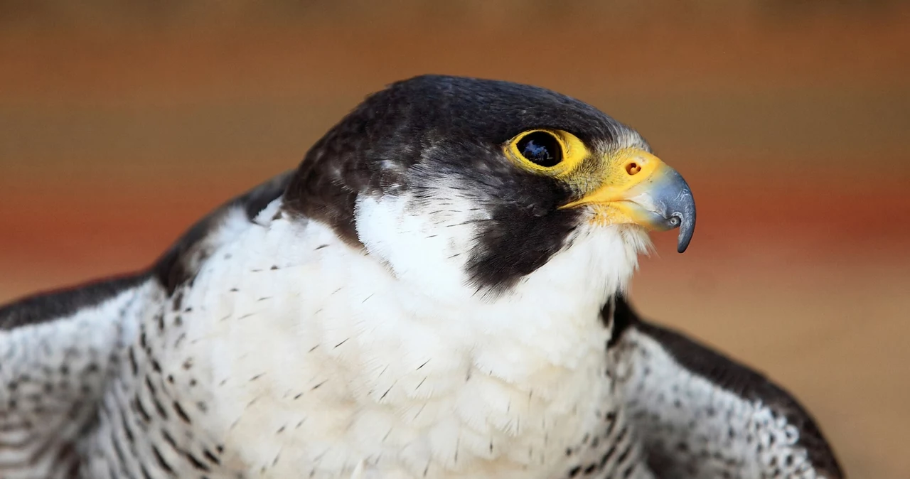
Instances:
[[[676,250],[689,247],[695,231],[692,190],[676,170],[640,149],[624,149],[607,159],[602,185],[562,208],[596,206],[604,223],[642,225],[649,230],[679,228]]]

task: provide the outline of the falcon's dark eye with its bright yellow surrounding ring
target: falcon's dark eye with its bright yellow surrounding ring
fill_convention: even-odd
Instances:
[[[541,128],[521,132],[503,149],[521,167],[554,176],[571,172],[588,155],[588,149],[575,135]]]

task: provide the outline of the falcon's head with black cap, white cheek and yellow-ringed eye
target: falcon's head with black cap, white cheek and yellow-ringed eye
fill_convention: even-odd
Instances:
[[[370,95],[313,146],[285,208],[330,225],[415,294],[459,301],[622,288],[648,230],[695,226],[682,176],[636,131],[543,88],[425,75]]]

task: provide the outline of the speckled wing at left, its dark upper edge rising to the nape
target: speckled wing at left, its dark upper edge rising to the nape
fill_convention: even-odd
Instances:
[[[76,477],[85,454],[79,438],[96,424],[108,379],[121,371],[140,323],[192,284],[225,241],[226,225],[252,225],[292,174],[217,208],[144,273],[0,305],[0,479]]]

